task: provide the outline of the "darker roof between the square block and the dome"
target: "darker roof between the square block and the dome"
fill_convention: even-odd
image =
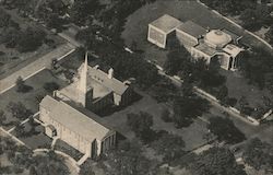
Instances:
[[[195,38],[206,33],[206,30],[192,21],[187,21],[177,27],[177,31],[182,31]]]

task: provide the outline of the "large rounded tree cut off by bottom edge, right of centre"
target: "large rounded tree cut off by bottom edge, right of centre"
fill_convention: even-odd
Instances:
[[[234,154],[225,148],[211,148],[195,156],[189,165],[194,175],[247,175]]]

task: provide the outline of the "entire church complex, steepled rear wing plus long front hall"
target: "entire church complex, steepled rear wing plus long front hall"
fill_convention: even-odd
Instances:
[[[97,66],[90,67],[86,55],[73,83],[41,101],[39,119],[47,136],[58,137],[86,156],[96,158],[115,145],[116,131],[92,112],[126,105],[131,94],[129,81],[115,79],[112,69],[105,73]]]

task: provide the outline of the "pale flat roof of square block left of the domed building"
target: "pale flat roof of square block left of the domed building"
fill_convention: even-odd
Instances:
[[[155,20],[154,22],[150,23],[151,25],[162,30],[165,33],[170,33],[177,26],[181,25],[182,22],[173,18],[171,15],[164,14],[159,19]]]

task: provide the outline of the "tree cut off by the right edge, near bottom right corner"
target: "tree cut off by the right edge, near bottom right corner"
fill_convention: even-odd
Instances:
[[[273,148],[260,139],[251,139],[244,149],[242,160],[256,170],[273,171]]]

